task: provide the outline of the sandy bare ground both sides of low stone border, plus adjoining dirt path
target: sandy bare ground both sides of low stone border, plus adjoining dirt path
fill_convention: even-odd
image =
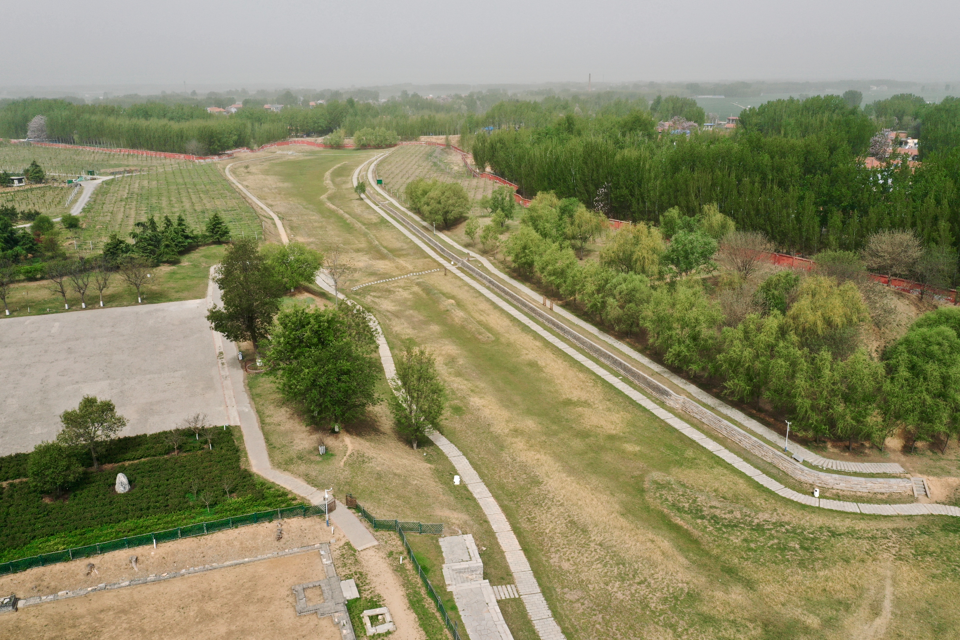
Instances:
[[[276,522],[211,533],[153,547],[137,547],[103,556],[38,567],[0,578],[0,593],[20,598],[51,595],[164,574],[228,560],[265,556],[331,539],[322,518],[283,520],[283,537],[276,540]],[[396,537],[396,536],[394,536]],[[345,547],[346,538],[333,534],[338,575],[366,574],[396,622],[398,640],[421,640],[423,631],[407,602],[403,585],[387,557],[399,551],[395,539],[360,553]],[[130,557],[137,557],[134,571]],[[87,576],[92,562],[96,573]],[[25,606],[0,616],[0,638],[340,638],[330,618],[298,617],[291,587],[319,580],[324,568],[317,552],[258,560],[212,569],[174,580],[94,591],[79,598]],[[316,590],[314,590],[316,591]],[[315,594],[311,593],[311,597]],[[171,616],[178,621],[171,625]],[[359,636],[363,635],[360,629]]]

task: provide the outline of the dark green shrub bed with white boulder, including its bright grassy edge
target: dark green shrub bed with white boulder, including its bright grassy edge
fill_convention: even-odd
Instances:
[[[166,447],[156,448],[156,435],[122,440],[127,442],[118,440],[111,449],[115,457],[166,453]],[[231,431],[217,432],[212,451],[194,443],[195,450],[177,456],[119,463],[99,472],[87,469],[65,500],[45,499],[30,482],[8,484],[0,495],[0,561],[149,533],[164,524],[180,526],[296,503],[240,467],[241,451]],[[130,479],[128,493],[114,491],[120,472]],[[204,493],[210,498],[209,513]],[[157,517],[170,515],[177,517]]]

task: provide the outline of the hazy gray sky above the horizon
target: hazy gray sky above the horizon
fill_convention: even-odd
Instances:
[[[0,85],[960,78],[960,2],[34,0]]]

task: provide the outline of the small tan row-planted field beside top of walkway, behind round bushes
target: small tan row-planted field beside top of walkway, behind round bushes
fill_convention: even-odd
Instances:
[[[459,182],[467,190],[470,200],[480,201],[489,196],[499,185],[488,179],[473,178],[464,166],[460,154],[444,147],[433,145],[402,145],[391,152],[377,165],[377,177],[383,178],[383,186],[397,200],[406,201],[403,189],[407,182],[417,178],[429,178],[443,182]],[[481,209],[476,204],[470,210],[478,215]]]

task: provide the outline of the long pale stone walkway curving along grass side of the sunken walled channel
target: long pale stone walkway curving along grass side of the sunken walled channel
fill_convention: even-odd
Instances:
[[[373,178],[373,170],[374,170],[374,168],[375,168],[375,165],[376,165],[377,161],[378,161],[379,159],[381,159],[382,157],[383,157],[383,156],[381,155],[381,156],[375,158],[375,159],[373,160],[373,162],[371,163],[371,165],[370,165],[370,169],[368,170],[368,178],[370,178],[370,182],[371,182],[371,184],[373,184],[373,185],[375,185],[375,179]],[[354,182],[356,182],[356,178],[357,178],[357,176],[358,176],[358,174],[359,174],[359,171],[360,171],[360,168],[358,168],[357,171],[354,173]],[[394,200],[393,198],[391,198],[386,192],[384,192],[383,190],[379,189],[379,187],[374,186],[374,188],[375,188],[383,197],[385,197],[385,198],[387,198],[388,200],[390,200],[397,208],[400,208],[400,209],[406,211],[406,209],[403,209],[402,205],[400,205],[398,202],[396,202],[396,200]],[[399,223],[399,222],[397,222],[396,220],[394,220],[394,218],[393,218],[392,216],[388,215],[388,214],[386,213],[386,211],[384,211],[384,209],[383,209],[382,207],[380,207],[380,206],[378,206],[377,204],[375,204],[371,199],[367,198],[366,196],[364,197],[364,200],[366,200],[378,213],[380,213],[380,215],[381,215],[382,217],[384,217],[386,220],[388,220],[389,222],[391,222],[391,223],[392,223],[393,225],[395,225],[398,229],[400,229],[401,232],[403,232],[405,235],[407,235],[409,238],[411,238],[411,240],[413,240],[418,246],[420,246],[421,249],[424,249],[424,250],[427,252],[427,254],[429,254],[431,257],[437,259],[438,261],[440,261],[440,262],[443,263],[444,265],[445,265],[445,264],[448,264],[448,261],[447,261],[444,257],[441,257],[436,251],[434,251],[433,249],[431,249],[430,247],[428,247],[425,243],[423,243],[423,242],[420,240],[420,238],[418,238],[418,237],[417,237],[416,235],[414,235],[411,231],[409,231],[404,225],[402,225],[401,223]],[[409,214],[409,212],[407,212],[407,213]],[[413,214],[409,214],[409,215],[410,215],[412,218],[414,218]],[[473,286],[474,289],[476,289],[477,291],[479,291],[479,292],[480,292],[481,294],[483,294],[484,296],[490,298],[495,304],[497,304],[497,306],[499,306],[499,307],[501,307],[502,309],[504,309],[507,313],[509,313],[510,315],[514,316],[517,320],[519,320],[520,322],[524,323],[525,325],[527,325],[528,327],[530,327],[532,330],[536,331],[536,332],[537,332],[538,334],[540,334],[540,336],[543,337],[545,340],[547,340],[548,342],[550,342],[550,343],[552,343],[552,344],[555,344],[558,348],[560,348],[560,349],[563,350],[565,353],[567,353],[568,355],[570,355],[570,357],[574,358],[575,360],[577,360],[578,362],[580,362],[582,365],[584,365],[585,367],[588,367],[588,368],[589,368],[590,370],[592,370],[594,373],[596,373],[596,374],[599,375],[600,377],[602,377],[602,378],[604,378],[605,380],[607,380],[608,382],[610,382],[614,387],[616,387],[616,388],[619,389],[620,391],[623,391],[625,394],[627,394],[627,395],[630,396],[632,399],[634,399],[638,404],[640,404],[640,405],[643,406],[644,408],[648,409],[648,410],[649,410],[651,413],[653,413],[654,415],[658,415],[661,419],[663,419],[665,422],[667,422],[667,423],[670,424],[671,426],[675,427],[678,431],[681,431],[681,433],[684,433],[684,435],[686,435],[687,437],[689,437],[689,438],[691,438],[691,439],[694,439],[697,443],[701,444],[702,446],[704,446],[705,448],[707,448],[709,451],[711,451],[712,453],[714,453],[714,455],[717,455],[718,457],[720,457],[721,459],[723,459],[723,460],[726,461],[726,462],[730,462],[735,468],[739,469],[740,471],[743,471],[743,472],[746,473],[749,477],[751,477],[751,478],[753,478],[754,480],[756,480],[757,483],[759,483],[759,484],[761,484],[761,485],[763,485],[763,486],[766,486],[766,487],[770,488],[771,490],[775,491],[776,493],[780,494],[780,495],[783,496],[783,497],[786,497],[786,498],[788,498],[788,499],[790,499],[790,500],[794,500],[795,502],[799,502],[799,503],[802,503],[802,504],[805,504],[805,505],[810,505],[810,506],[820,507],[820,508],[823,508],[823,509],[830,509],[830,510],[843,510],[843,511],[851,511],[851,512],[858,512],[858,513],[871,513],[871,514],[877,514],[877,515],[942,514],[942,515],[955,515],[955,516],[960,516],[960,508],[948,507],[948,506],[946,506],[946,505],[919,504],[919,503],[918,503],[918,504],[912,504],[912,505],[874,505],[874,504],[867,504],[867,503],[852,503],[852,502],[845,502],[845,501],[836,501],[836,500],[828,500],[828,499],[814,498],[814,497],[812,497],[812,496],[807,496],[807,495],[805,495],[805,494],[798,493],[797,491],[794,491],[793,489],[787,488],[786,486],[782,486],[782,485],[780,485],[780,483],[778,483],[777,481],[775,481],[773,478],[770,478],[770,477],[767,476],[766,474],[760,473],[755,467],[753,467],[753,466],[750,465],[749,463],[745,462],[743,459],[739,458],[738,456],[736,456],[735,454],[733,454],[731,451],[727,450],[725,447],[723,447],[722,445],[720,445],[720,444],[717,443],[716,441],[714,441],[714,440],[712,440],[712,439],[709,439],[709,438],[707,438],[706,436],[704,436],[700,431],[698,431],[697,429],[694,429],[694,428],[693,428],[692,426],[690,426],[688,423],[684,422],[684,420],[682,420],[681,418],[677,417],[676,415],[673,415],[672,413],[670,413],[669,411],[667,411],[667,410],[665,410],[665,409],[662,409],[662,408],[660,407],[660,405],[658,405],[656,402],[650,400],[648,397],[646,397],[645,395],[643,395],[643,394],[640,393],[639,391],[636,391],[635,389],[633,389],[632,387],[630,387],[629,385],[627,385],[626,383],[624,383],[624,382],[623,382],[622,380],[620,380],[619,378],[613,376],[613,375],[612,375],[611,373],[609,373],[605,368],[599,367],[598,365],[596,365],[595,363],[593,363],[591,360],[589,360],[587,357],[583,356],[582,354],[580,354],[578,351],[576,351],[576,350],[573,349],[572,347],[568,346],[567,344],[565,344],[564,342],[562,342],[562,341],[559,340],[558,338],[554,337],[551,333],[549,333],[549,332],[547,332],[546,330],[542,329],[539,324],[535,323],[533,320],[529,320],[526,316],[524,316],[523,314],[519,313],[513,306],[507,304],[507,302],[505,302],[502,298],[500,298],[499,296],[493,295],[493,294],[492,294],[489,290],[487,290],[485,287],[483,287],[483,286],[480,285],[479,283],[474,282],[472,279],[468,278],[468,277],[466,276],[466,274],[461,273],[460,270],[456,267],[456,263],[450,263],[450,264],[451,264],[451,271],[452,271],[453,273],[456,273],[457,275],[459,275],[460,277],[462,277],[462,278],[463,278],[465,281],[467,281],[471,286]],[[517,284],[518,284],[518,283],[517,283]],[[525,289],[525,288],[524,288],[524,289]],[[527,289],[527,291],[530,291],[530,290]],[[594,328],[594,333],[597,333],[597,332],[598,332],[598,330],[596,330],[596,329]],[[636,351],[635,351],[635,353],[636,353]],[[636,355],[639,356],[640,354],[636,354]],[[660,367],[660,368],[662,368],[662,367]],[[685,381],[684,381],[684,382],[685,382]],[[699,391],[699,390],[698,390],[698,391]],[[702,391],[701,391],[701,392],[702,392]],[[693,403],[693,402],[690,401],[689,399],[686,399],[686,398],[684,398],[684,399],[685,399],[687,402],[689,402],[691,405],[695,405],[695,403]],[[699,405],[695,405],[695,406],[699,407]],[[704,410],[704,409],[702,409],[702,408],[701,408],[701,410],[702,410],[705,414],[708,413],[706,410]],[[732,410],[732,411],[735,411],[735,410]],[[713,414],[709,414],[709,415],[713,415]],[[726,420],[722,420],[722,418],[719,418],[719,416],[715,416],[715,415],[714,415],[714,417],[715,417],[717,420],[719,420],[719,421],[725,422],[725,423],[728,424],[730,427],[732,427],[732,429],[735,429],[736,431],[739,431],[739,432],[743,433],[744,436],[747,436],[747,434],[746,434],[745,432],[742,432],[742,430],[740,430],[739,428],[735,427],[735,426],[732,425],[731,423],[726,422]],[[753,438],[753,437],[750,437],[750,438]],[[757,442],[757,443],[762,443],[762,442],[760,442],[760,440],[758,440],[758,439],[756,439],[756,442]],[[772,447],[769,447],[769,445],[766,445],[765,443],[762,443],[762,444],[764,444],[764,446],[767,447],[767,448],[772,448]],[[794,464],[800,465],[799,462],[796,462],[796,461],[792,461],[792,460],[790,460],[790,459],[787,459],[785,456],[782,456],[781,458],[784,459],[784,460],[787,460],[787,461],[789,461],[789,462],[793,462]],[[819,472],[814,472],[814,471],[812,471],[812,470],[810,470],[810,469],[807,469],[806,467],[803,467],[802,465],[800,465],[800,466],[801,466],[801,468],[805,469],[806,471],[810,471],[810,472],[812,472],[812,473],[819,473]],[[821,474],[821,475],[823,475],[823,476],[829,476],[830,474]],[[832,476],[832,477],[838,478],[838,479],[839,479],[839,478],[849,478],[848,476]],[[868,483],[868,482],[870,482],[870,481],[872,481],[872,480],[884,480],[884,479],[866,479],[866,478],[860,479],[860,478],[857,478],[857,479],[855,479],[855,480],[858,481],[858,482]],[[905,481],[905,484],[908,484],[908,485],[909,485],[909,486],[908,486],[909,490],[912,490],[912,482],[911,482],[909,479],[889,479],[887,482],[890,482],[890,481]],[[519,581],[517,581],[517,585],[519,586]],[[522,593],[522,591],[521,591],[521,593]],[[528,610],[529,610],[529,607],[528,607]]]

